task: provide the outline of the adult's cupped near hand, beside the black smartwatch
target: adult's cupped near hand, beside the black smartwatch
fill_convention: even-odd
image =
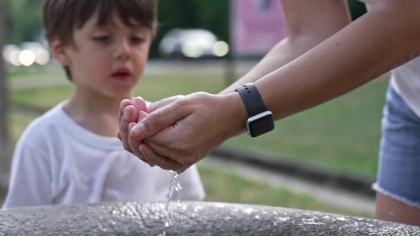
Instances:
[[[184,171],[245,128],[246,111],[236,92],[196,92],[165,105],[135,124],[126,139],[131,144],[133,139],[140,141],[130,148],[138,148],[149,164],[164,169]]]

